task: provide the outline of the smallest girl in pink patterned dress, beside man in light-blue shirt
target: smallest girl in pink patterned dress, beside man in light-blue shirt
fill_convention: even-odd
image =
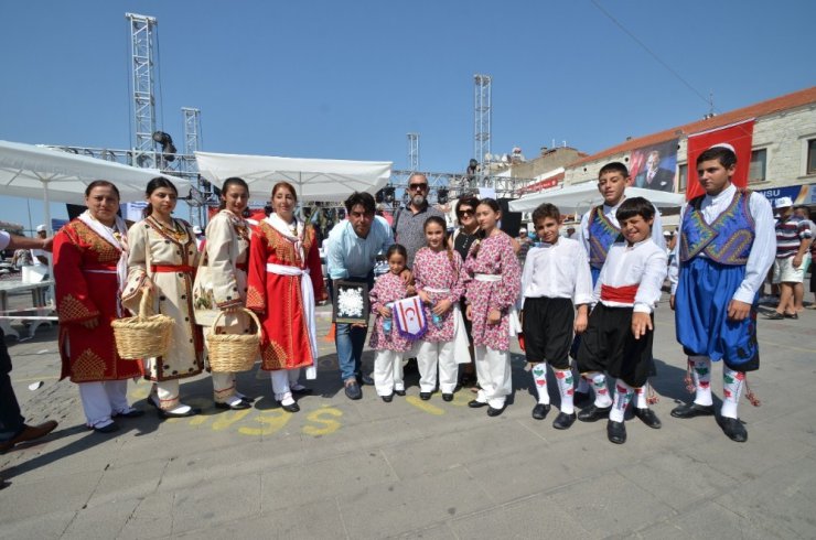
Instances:
[[[380,276],[368,294],[372,311],[377,314],[368,345],[377,352],[374,358],[374,387],[377,396],[389,403],[394,393],[405,396],[402,382],[402,353],[410,350],[411,343],[399,335],[391,318],[391,303],[408,295],[405,280],[399,276],[405,270],[408,253],[405,247],[394,244],[386,251],[388,273]]]

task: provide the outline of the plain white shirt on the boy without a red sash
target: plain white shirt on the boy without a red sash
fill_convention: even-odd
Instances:
[[[559,238],[527,251],[522,271],[524,298],[572,299],[576,305],[592,301],[592,274],[578,240]],[[519,305],[519,309],[522,306]]]

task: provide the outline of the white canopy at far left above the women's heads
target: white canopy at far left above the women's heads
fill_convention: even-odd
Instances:
[[[0,195],[42,198],[51,229],[50,203],[83,204],[85,188],[95,180],[116,184],[121,202],[143,201],[150,180],[163,176],[179,188],[190,182],[155,169],[139,169],[49,147],[0,141]]]

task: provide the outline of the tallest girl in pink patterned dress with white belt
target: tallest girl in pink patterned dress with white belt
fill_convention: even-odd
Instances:
[[[504,411],[505,399],[513,390],[511,309],[522,289],[522,271],[511,237],[497,226],[501,218],[498,203],[492,198],[480,201],[476,220],[483,236],[471,247],[464,261],[471,278],[465,291],[468,318],[473,322],[476,376],[482,387],[468,406],[487,406],[490,417]]]

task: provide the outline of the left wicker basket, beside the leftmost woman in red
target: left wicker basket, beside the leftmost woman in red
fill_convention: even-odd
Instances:
[[[164,356],[170,348],[173,320],[167,315],[148,316],[150,294],[143,292],[139,302],[139,314],[118,318],[110,323],[116,338],[116,348],[121,358],[142,359]]]

